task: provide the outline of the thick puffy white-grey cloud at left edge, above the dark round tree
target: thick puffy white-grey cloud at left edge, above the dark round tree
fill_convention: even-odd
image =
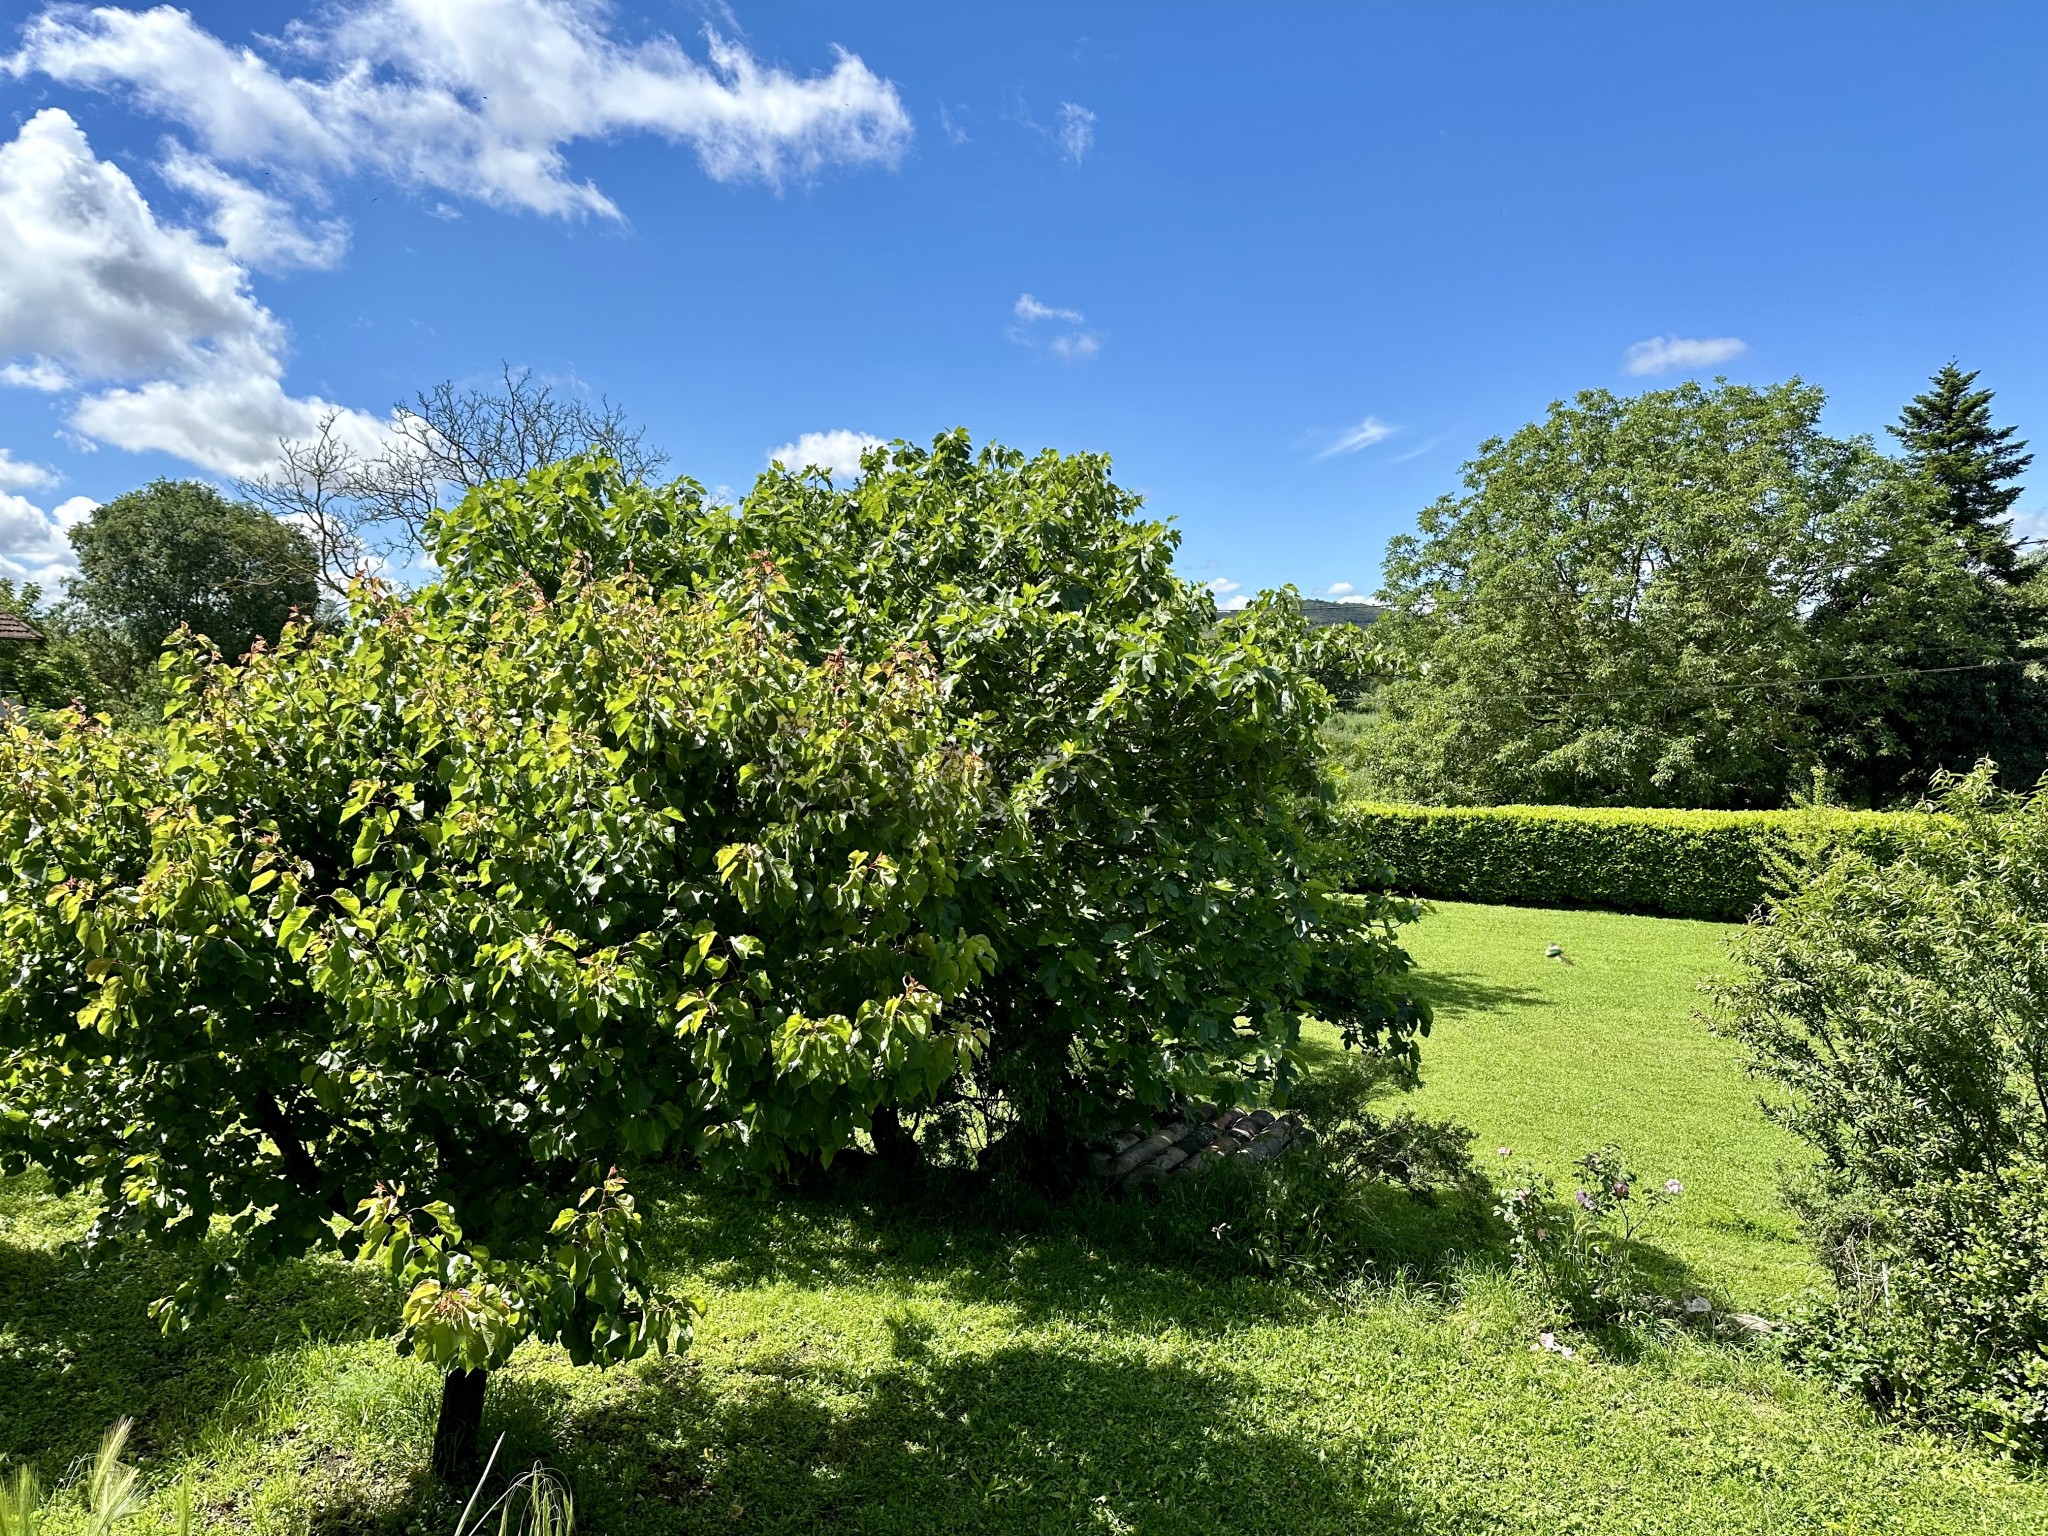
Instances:
[[[117,385],[82,399],[72,426],[244,475],[332,410],[285,393],[283,350],[248,270],[158,221],[68,113],[43,109],[0,145],[0,356],[29,358],[8,383]],[[358,438],[377,430],[346,418]]]

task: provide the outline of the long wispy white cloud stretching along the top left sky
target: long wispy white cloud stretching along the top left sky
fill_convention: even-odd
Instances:
[[[266,41],[272,59],[170,6],[55,8],[4,68],[129,94],[213,162],[303,186],[371,172],[557,215],[618,213],[571,178],[563,147],[580,139],[657,133],[715,180],[770,186],[895,166],[909,145],[895,86],[844,49],[799,78],[715,31],[707,63],[672,37],[621,43],[606,20],[602,0],[356,0]]]

